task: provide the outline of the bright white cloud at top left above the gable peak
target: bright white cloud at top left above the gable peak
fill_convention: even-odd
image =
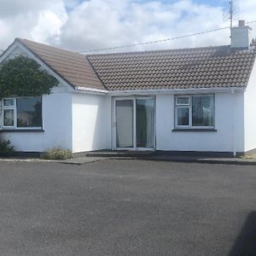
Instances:
[[[67,19],[62,0],[0,2],[0,49],[6,48],[15,38],[48,43],[50,38],[58,36],[61,26]]]

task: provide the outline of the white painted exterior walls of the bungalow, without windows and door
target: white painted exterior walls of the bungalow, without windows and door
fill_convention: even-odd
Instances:
[[[24,51],[20,49],[13,49],[9,57]],[[67,148],[83,152],[111,148],[110,96],[71,92],[67,84],[60,84],[52,92],[43,96],[44,132],[3,133],[15,150]],[[160,94],[155,98],[157,150],[244,152],[256,148],[256,67],[245,95],[215,94],[217,132],[172,131],[174,95]]]

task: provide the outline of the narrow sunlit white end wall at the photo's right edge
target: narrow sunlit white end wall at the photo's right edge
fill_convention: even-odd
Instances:
[[[244,96],[245,115],[245,151],[256,148],[256,65],[254,63],[251,78]]]

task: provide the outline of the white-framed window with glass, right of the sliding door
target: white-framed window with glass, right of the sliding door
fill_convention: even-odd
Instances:
[[[175,117],[177,128],[213,128],[214,96],[176,96]]]

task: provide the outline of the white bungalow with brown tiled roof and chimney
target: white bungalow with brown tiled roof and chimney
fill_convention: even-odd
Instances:
[[[225,152],[256,148],[255,49],[248,26],[231,45],[80,55],[16,38],[59,85],[2,99],[1,133],[17,151],[68,148]]]

